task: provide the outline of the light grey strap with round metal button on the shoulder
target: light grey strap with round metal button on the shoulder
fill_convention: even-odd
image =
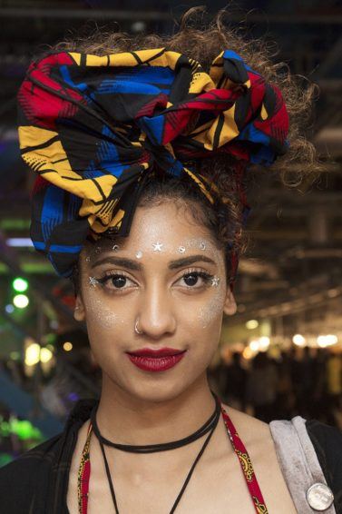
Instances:
[[[336,514],[333,495],[301,416],[269,423],[280,469],[299,514]]]

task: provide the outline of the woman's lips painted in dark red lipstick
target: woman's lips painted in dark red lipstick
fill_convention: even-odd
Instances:
[[[184,357],[185,350],[174,348],[161,348],[159,350],[142,348],[137,351],[127,352],[130,361],[143,371],[170,370]]]

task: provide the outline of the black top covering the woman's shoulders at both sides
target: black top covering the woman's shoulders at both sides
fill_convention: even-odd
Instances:
[[[98,400],[79,400],[64,431],[0,469],[1,514],[69,514],[66,495],[78,430]],[[307,430],[342,514],[342,432],[317,420]]]

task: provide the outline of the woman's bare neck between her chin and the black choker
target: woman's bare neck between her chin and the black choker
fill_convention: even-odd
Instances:
[[[104,438],[120,444],[146,445],[180,440],[208,420],[215,408],[207,377],[168,400],[142,400],[103,375],[96,420]]]

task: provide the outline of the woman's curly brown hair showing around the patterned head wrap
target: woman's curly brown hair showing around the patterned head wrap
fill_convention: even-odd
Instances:
[[[272,168],[278,173],[282,183],[298,185],[298,175],[293,181],[292,164],[300,170],[300,176],[318,172],[320,165],[315,147],[305,135],[312,114],[312,104],[317,94],[317,86],[305,81],[304,77],[291,74],[287,64],[274,63],[269,45],[262,39],[248,40],[237,28],[226,23],[229,13],[223,9],[203,28],[203,20],[198,15],[203,7],[189,9],[181,18],[179,30],[172,35],[129,35],[123,32],[104,32],[97,29],[86,37],[74,37],[56,44],[54,51],[81,52],[87,54],[112,54],[132,52],[139,49],[165,47],[167,50],[186,54],[198,61],[209,73],[213,59],[227,48],[240,54],[253,70],[262,74],[268,82],[280,89],[289,117],[288,153],[278,158]],[[305,84],[303,84],[303,80]],[[239,256],[245,249],[242,237],[242,216],[240,203],[240,183],[232,159],[215,155],[195,163],[199,173],[215,183],[218,194],[213,205],[203,200],[203,195],[194,190],[193,183],[180,183],[171,177],[161,177],[151,173],[142,193],[140,204],[158,202],[162,197],[191,200],[188,205],[191,213],[210,228],[218,244],[226,248],[227,279],[234,280],[234,270],[230,266],[231,252]],[[192,181],[191,181],[192,182]],[[196,186],[195,186],[196,189]],[[198,189],[198,188],[197,188]],[[199,211],[194,205],[201,206]],[[75,281],[73,281],[75,282]]]

